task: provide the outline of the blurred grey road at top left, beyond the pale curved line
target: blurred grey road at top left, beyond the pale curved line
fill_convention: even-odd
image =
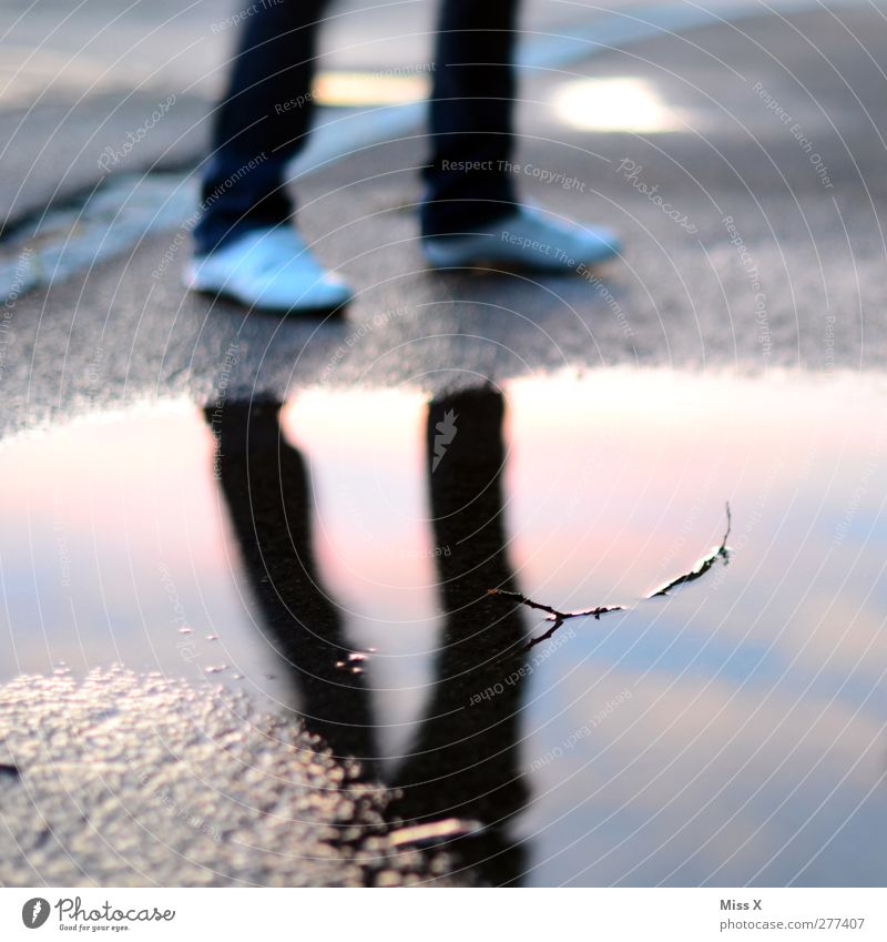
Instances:
[[[90,191],[109,173],[196,162],[237,18],[249,7],[236,0],[4,3],[0,230]],[[428,62],[434,11],[428,0],[330,3],[318,68],[384,71]],[[531,0],[523,23],[529,32],[547,32],[579,16],[569,3]],[[105,149],[120,151],[170,94],[175,105],[161,126],[152,124],[124,160],[100,166]]]

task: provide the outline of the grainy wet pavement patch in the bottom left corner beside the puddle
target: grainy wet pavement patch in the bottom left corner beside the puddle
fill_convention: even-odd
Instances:
[[[243,697],[112,670],[23,677],[0,706],[0,885],[450,882],[357,763]]]

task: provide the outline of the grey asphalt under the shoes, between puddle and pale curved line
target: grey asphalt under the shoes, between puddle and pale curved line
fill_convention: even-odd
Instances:
[[[303,231],[358,292],[344,320],[281,323],[192,296],[179,281],[186,226],[147,235],[6,308],[4,428],[208,397],[232,343],[230,394],[247,395],[434,386],[453,369],[878,367],[887,26],[869,8],[839,16],[840,29],[832,12],[804,12],[664,36],[524,80],[514,172],[527,197],[624,239],[624,257],[591,276],[426,271],[412,213],[425,146],[406,134],[298,181]],[[671,130],[574,126],[589,120],[581,95],[614,78]],[[558,98],[568,85],[578,104]]]

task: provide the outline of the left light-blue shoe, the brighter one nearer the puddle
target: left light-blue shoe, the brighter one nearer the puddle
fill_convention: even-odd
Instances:
[[[195,255],[184,282],[193,291],[279,314],[335,311],[353,296],[289,225],[249,230],[208,255]]]

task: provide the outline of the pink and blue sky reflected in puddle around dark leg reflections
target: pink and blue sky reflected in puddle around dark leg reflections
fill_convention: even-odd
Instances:
[[[544,880],[559,867],[575,874],[574,855],[557,857],[573,841],[602,881],[632,872],[630,882],[655,882],[684,861],[683,874],[705,879],[726,861],[725,882],[738,883],[795,833],[785,872],[835,835],[809,873],[834,878],[834,860],[855,860],[864,831],[875,851],[860,867],[884,861],[879,789],[839,830],[884,764],[887,427],[881,391],[866,383],[608,371],[509,384],[509,549],[526,591],[564,606],[631,601],[720,540],[727,498],[737,550],[667,602],[572,622],[574,636],[534,669],[528,767],[632,690],[532,773],[521,827],[548,860]],[[377,721],[392,725],[381,730],[387,754],[420,713],[431,679],[421,655],[440,624],[426,408],[411,392],[307,391],[283,414],[312,472],[324,583],[355,645],[378,648],[368,672]],[[266,669],[282,672],[238,598],[212,472],[212,436],[190,404],[0,445],[0,650],[9,612],[34,619],[14,626],[28,670],[77,665],[85,637],[88,664],[115,660],[119,640],[139,669],[186,673],[164,564],[195,634],[222,636],[200,664],[236,664],[258,686]],[[853,529],[836,545],[848,509]],[[130,618],[128,637],[109,612]]]

